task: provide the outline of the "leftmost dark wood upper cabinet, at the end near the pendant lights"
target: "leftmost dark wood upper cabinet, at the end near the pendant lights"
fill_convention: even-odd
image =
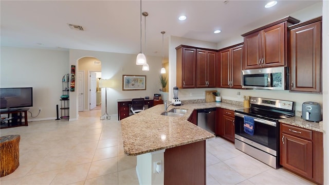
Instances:
[[[196,49],[178,46],[176,48],[176,86],[178,88],[196,87]]]

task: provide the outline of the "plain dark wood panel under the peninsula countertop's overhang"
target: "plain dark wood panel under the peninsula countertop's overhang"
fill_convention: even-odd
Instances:
[[[206,184],[206,140],[166,149],[165,185]]]

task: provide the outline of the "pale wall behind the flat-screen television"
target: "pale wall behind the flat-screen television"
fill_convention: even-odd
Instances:
[[[1,47],[1,87],[33,87],[35,117],[28,120],[56,119],[56,105],[60,105],[62,78],[69,73],[68,51]],[[61,113],[59,113],[61,116]]]

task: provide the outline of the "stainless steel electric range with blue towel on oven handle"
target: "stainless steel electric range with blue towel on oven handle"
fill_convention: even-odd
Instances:
[[[235,148],[280,168],[279,120],[295,115],[295,102],[250,98],[250,108],[235,110]],[[245,132],[245,119],[253,119],[253,134]]]

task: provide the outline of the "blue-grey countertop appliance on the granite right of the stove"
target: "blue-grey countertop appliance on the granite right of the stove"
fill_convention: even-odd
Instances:
[[[302,105],[302,118],[307,121],[321,121],[321,106],[317,102],[304,102]]]

